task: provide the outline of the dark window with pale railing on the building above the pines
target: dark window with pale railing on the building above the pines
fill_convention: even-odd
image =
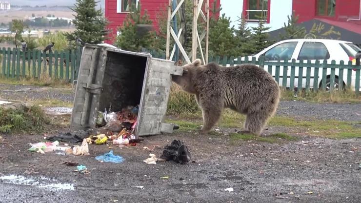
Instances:
[[[248,0],[246,20],[259,21],[260,18],[267,20],[268,12],[268,0]]]

